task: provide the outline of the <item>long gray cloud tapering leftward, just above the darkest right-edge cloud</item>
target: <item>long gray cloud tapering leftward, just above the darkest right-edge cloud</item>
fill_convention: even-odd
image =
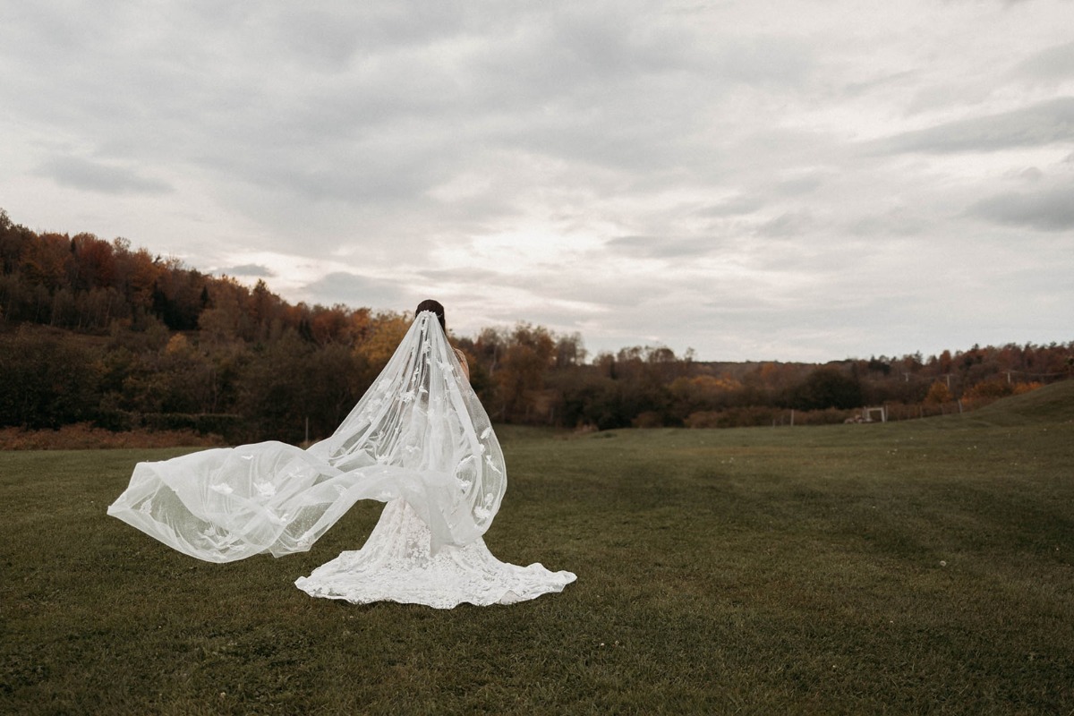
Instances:
[[[876,152],[996,151],[1074,141],[1074,97],[929,129],[904,132],[874,143]]]

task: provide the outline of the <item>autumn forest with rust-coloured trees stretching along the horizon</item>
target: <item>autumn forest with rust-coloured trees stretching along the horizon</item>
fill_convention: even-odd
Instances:
[[[91,423],[228,441],[331,434],[406,332],[407,311],[290,304],[128,239],[37,233],[0,209],[0,427]],[[1069,378],[1074,341],[824,365],[720,363],[666,347],[590,356],[540,325],[451,335],[494,421],[571,429],[729,427],[971,409]]]

